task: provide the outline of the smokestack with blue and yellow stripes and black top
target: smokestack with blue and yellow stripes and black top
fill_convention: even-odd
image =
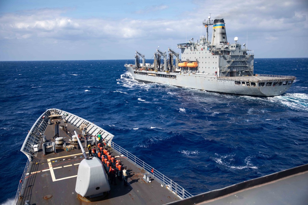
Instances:
[[[227,44],[227,34],[224,19],[215,19],[213,25],[212,45]]]

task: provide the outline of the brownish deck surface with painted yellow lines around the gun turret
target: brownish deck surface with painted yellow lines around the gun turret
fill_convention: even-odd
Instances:
[[[63,120],[60,120],[59,125],[64,125]],[[71,124],[65,126],[71,131],[75,129]],[[47,126],[44,132],[47,141],[53,141],[54,129],[54,124]],[[77,134],[81,134],[79,129],[75,130]],[[59,136],[64,138],[66,145],[70,145],[69,136],[64,130],[59,130]],[[84,139],[81,142],[84,146]],[[75,185],[78,166],[84,159],[82,151],[74,145],[75,149],[56,148],[57,153],[44,156],[42,144],[26,175],[24,193],[18,204],[25,204],[26,200],[29,200],[30,204],[165,204],[180,200],[166,187],[161,187],[155,179],[146,183],[142,179],[145,173],[143,170],[111,150],[111,155],[120,159],[123,168],[127,168],[130,174],[129,186],[125,187],[123,181],[116,179],[117,185],[110,185],[111,190],[103,199],[95,202],[81,201],[77,198]],[[85,151],[87,152],[87,149]]]

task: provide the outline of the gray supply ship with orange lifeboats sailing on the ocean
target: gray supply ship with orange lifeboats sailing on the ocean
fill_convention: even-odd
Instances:
[[[245,43],[238,43],[237,37],[234,43],[227,41],[224,19],[213,21],[209,17],[203,25],[206,36],[177,45],[181,56],[170,48],[168,54],[156,49],[154,63],[150,64],[145,63],[145,56],[136,51],[135,65],[124,66],[138,81],[216,93],[270,97],[285,93],[293,84],[294,76],[253,73],[253,50],[248,50]],[[212,41],[208,39],[210,26],[213,26]],[[161,63],[162,58],[164,63]]]

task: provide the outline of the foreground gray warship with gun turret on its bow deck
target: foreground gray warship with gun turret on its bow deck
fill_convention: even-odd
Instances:
[[[116,185],[109,184],[103,163],[85,153],[83,147],[96,145],[98,135],[129,171],[128,186],[119,179]],[[43,112],[20,150],[28,160],[14,204],[301,205],[308,201],[308,164],[193,196],[115,144],[113,137],[69,112],[54,108]]]

